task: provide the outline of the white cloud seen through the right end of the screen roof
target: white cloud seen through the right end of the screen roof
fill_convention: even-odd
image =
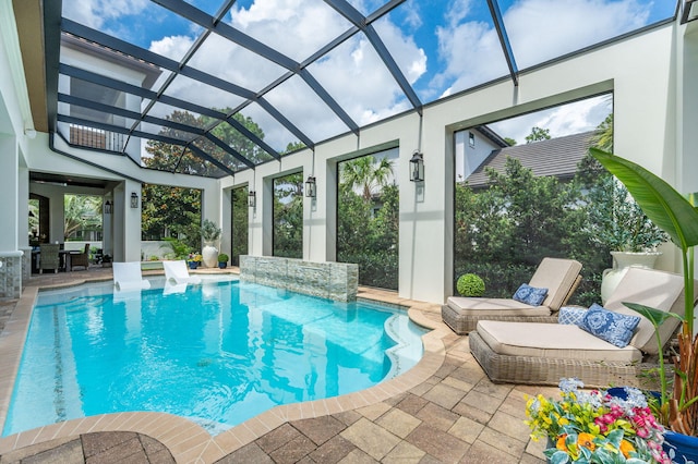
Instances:
[[[508,74],[493,25],[467,21],[468,0],[459,0],[437,27],[440,59],[446,65],[431,85],[444,95]],[[617,36],[647,23],[637,0],[520,0],[504,12],[519,69]]]

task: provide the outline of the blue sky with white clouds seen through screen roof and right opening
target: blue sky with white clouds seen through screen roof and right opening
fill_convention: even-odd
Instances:
[[[364,15],[382,2],[350,0]],[[215,14],[221,0],[188,0],[188,3]],[[670,0],[501,0],[519,69],[669,17],[675,4]],[[64,0],[63,13],[176,60],[201,34],[200,27],[148,0]],[[350,26],[322,0],[240,0],[224,21],[297,61],[304,60]],[[407,0],[374,23],[374,27],[422,102],[508,74],[485,0]],[[285,71],[265,61],[212,37],[190,64],[256,90]],[[410,109],[363,36],[348,40],[309,71],[359,125]],[[205,106],[239,103],[239,99],[230,97],[226,101],[218,93],[184,80],[173,83],[168,93],[196,98]],[[347,131],[300,80],[285,83],[268,99],[291,121],[299,121],[299,127],[316,142]],[[599,105],[605,103],[600,100]],[[585,110],[589,118],[587,125],[595,126],[600,120],[593,119],[603,111]],[[263,126],[266,139],[275,148],[285,147],[293,138],[254,105],[244,112]],[[566,114],[570,117],[569,111]],[[580,125],[550,118],[539,121],[558,127],[555,131],[561,133],[551,129],[553,135],[565,135],[562,132]],[[526,124],[529,122],[530,118]],[[503,135],[518,138],[515,134]]]

